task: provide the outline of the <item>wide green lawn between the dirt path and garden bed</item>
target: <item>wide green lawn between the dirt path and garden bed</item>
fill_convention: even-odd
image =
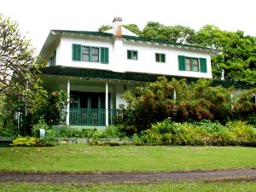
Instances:
[[[161,172],[256,167],[256,148],[90,146],[0,148],[0,170]]]

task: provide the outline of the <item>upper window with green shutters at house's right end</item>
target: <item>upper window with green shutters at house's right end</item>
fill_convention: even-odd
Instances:
[[[207,59],[178,55],[178,70],[207,73]]]

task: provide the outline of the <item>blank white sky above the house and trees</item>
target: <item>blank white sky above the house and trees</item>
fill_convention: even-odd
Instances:
[[[51,29],[97,31],[116,16],[140,29],[148,21],[195,30],[211,24],[256,36],[255,7],[254,0],[0,0],[0,13],[19,23],[37,53]]]

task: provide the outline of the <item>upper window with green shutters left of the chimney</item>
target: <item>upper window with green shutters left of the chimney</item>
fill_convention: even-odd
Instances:
[[[89,62],[99,62],[108,63],[108,48],[90,47],[82,46],[80,44],[72,45],[73,61],[89,61]]]

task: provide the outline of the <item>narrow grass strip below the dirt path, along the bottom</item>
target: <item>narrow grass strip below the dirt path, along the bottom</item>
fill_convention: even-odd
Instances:
[[[0,183],[1,191],[255,191],[256,183],[229,182],[229,183],[147,183],[147,184],[49,184],[49,183]]]

